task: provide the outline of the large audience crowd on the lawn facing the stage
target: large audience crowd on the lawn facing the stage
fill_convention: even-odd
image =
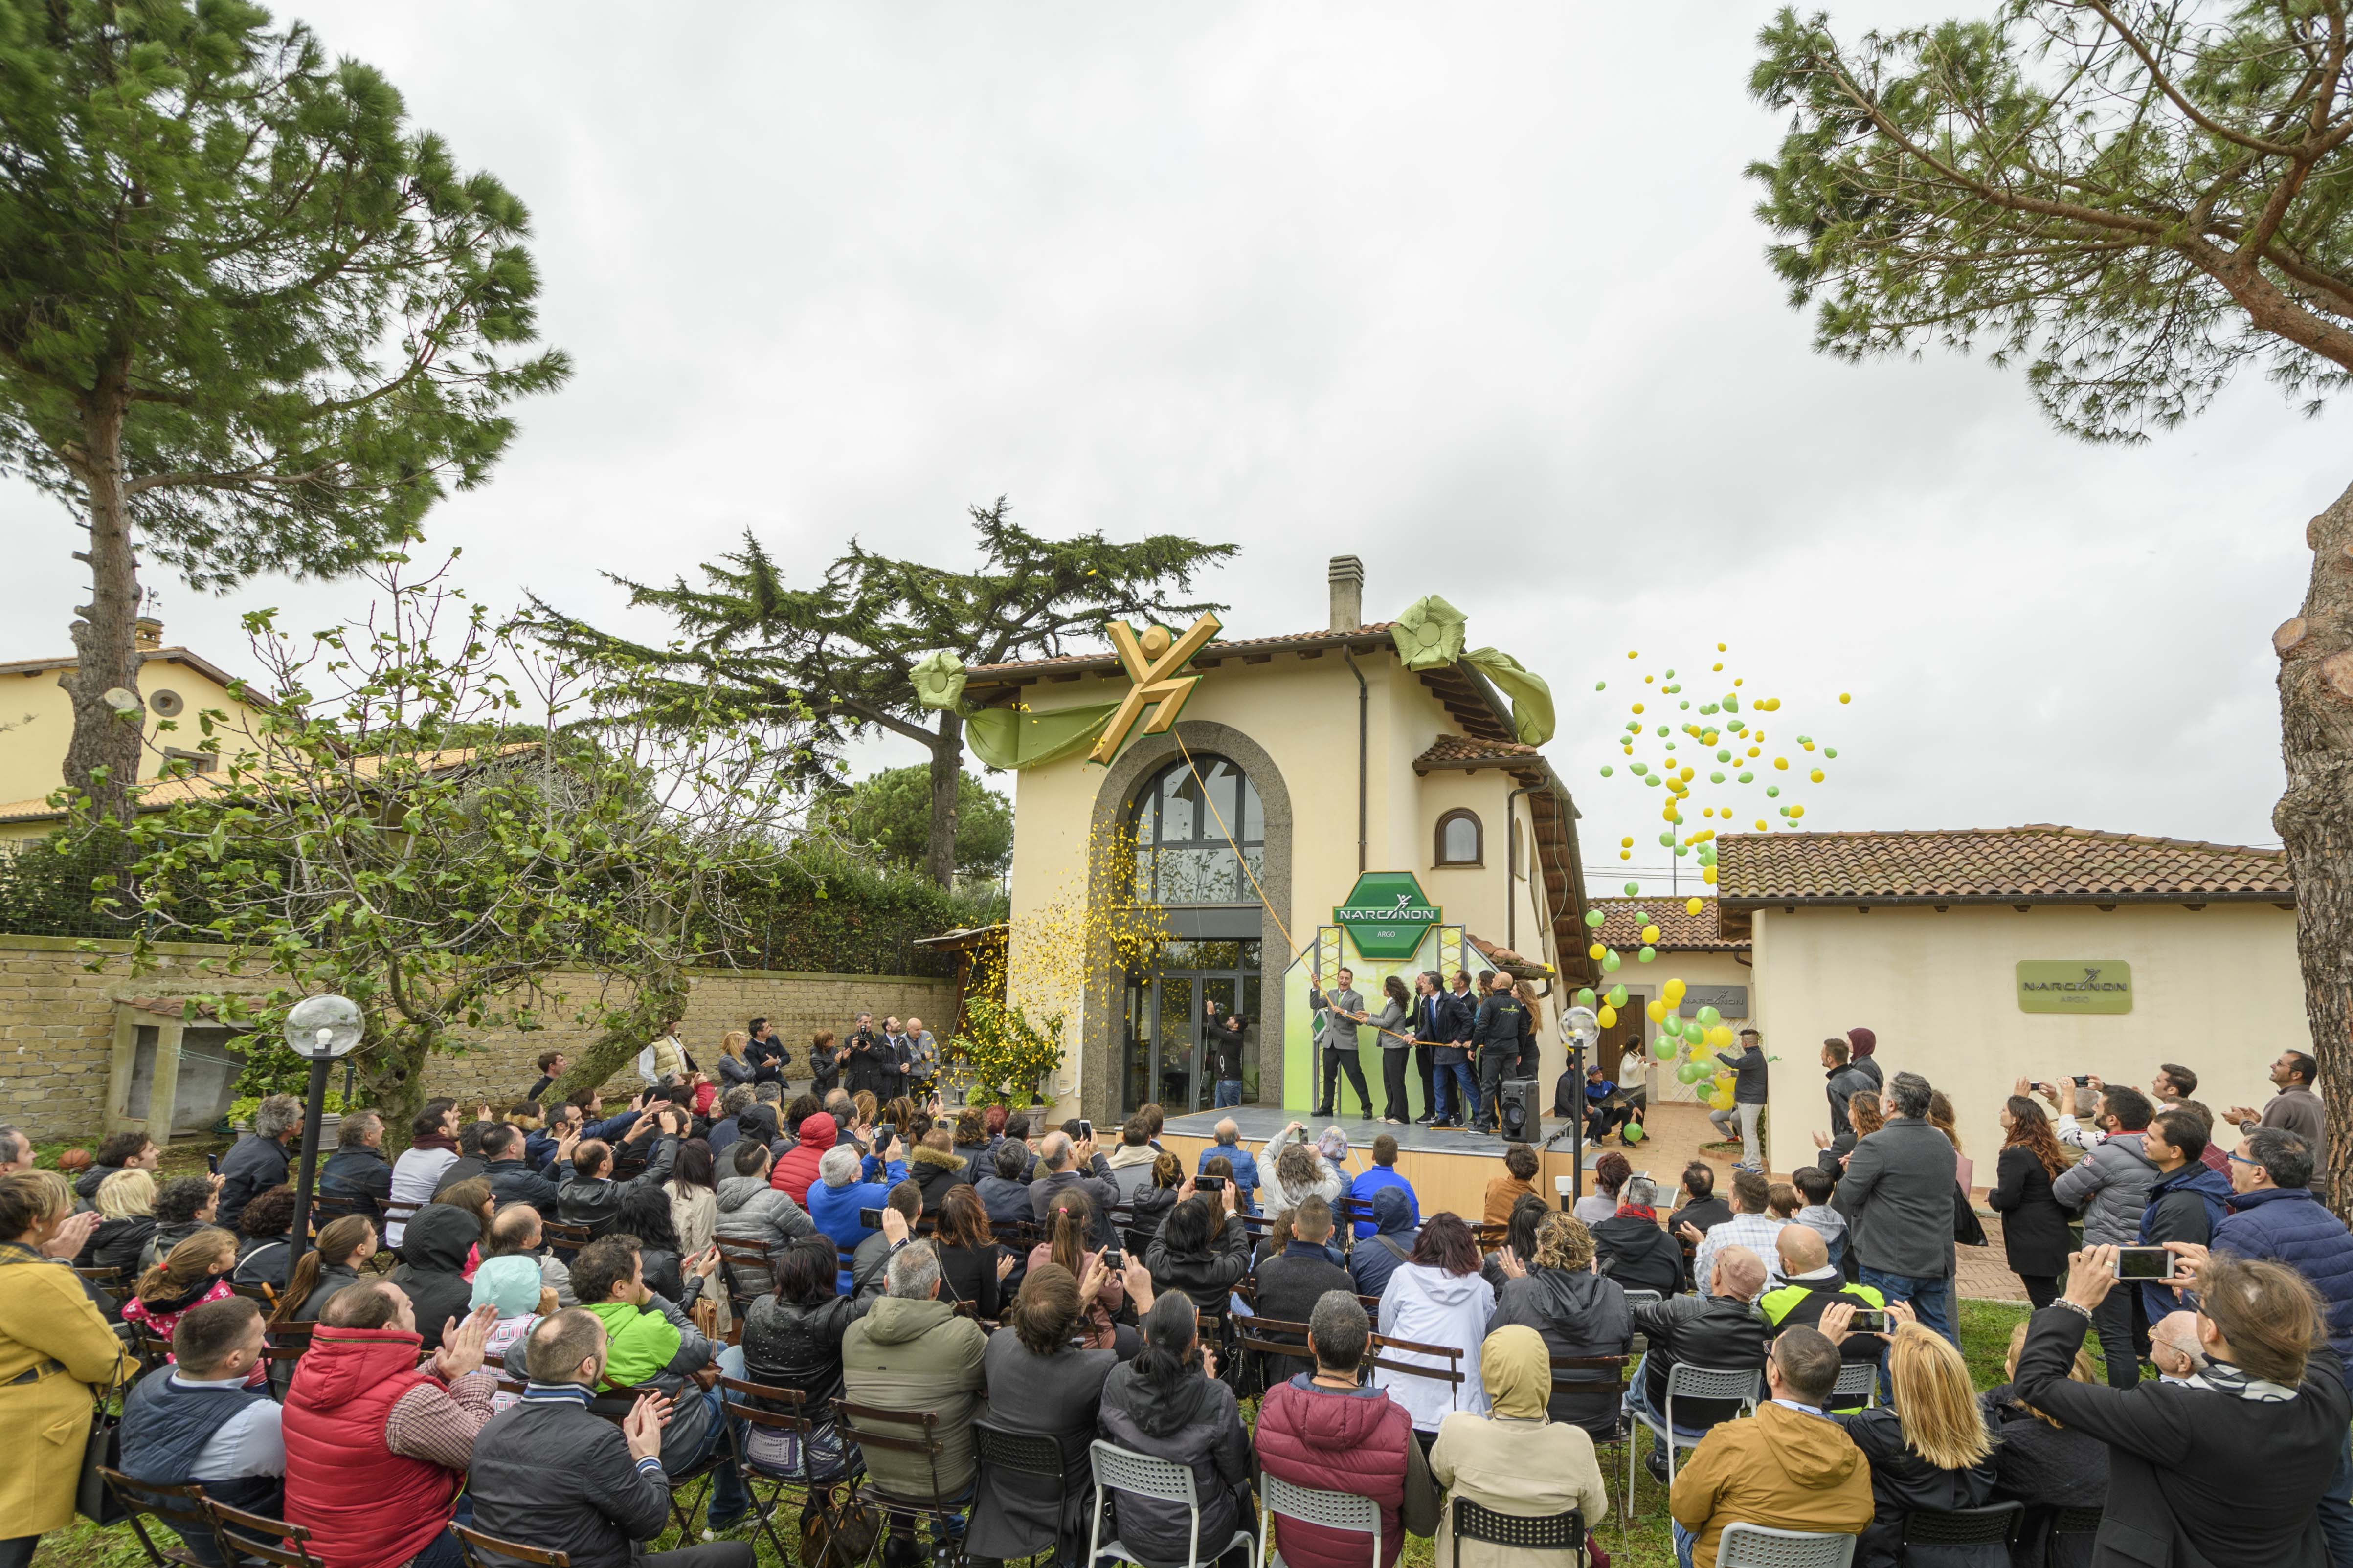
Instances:
[[[1111,1490],[1106,1540],[1144,1561],[1198,1542],[1202,1563],[1242,1563],[1273,1479],[1369,1500],[1379,1568],[1405,1535],[1499,1568],[1506,1549],[1454,1542],[1457,1502],[1574,1512],[1600,1561],[1598,1446],[1635,1443],[1687,1568],[1734,1526],[1852,1535],[1857,1563],[1899,1568],[1927,1561],[1911,1521],[1988,1505],[2024,1507],[2014,1542],[1937,1563],[2089,1563],[2092,1537],[2061,1530],[2080,1516],[2099,1519],[2097,1561],[2329,1561],[2353,1237],[2308,1201],[2311,1143],[2278,1126],[2231,1157],[2219,1222],[2191,1213],[2202,1199],[2165,1220],[2195,1239],[2165,1239],[2174,1276],[2148,1300],[2087,1218],[2007,1382],[1979,1394],[1953,1333],[1953,1145],[1922,1143],[1951,1133],[1918,1074],[1857,1088],[1845,1150],[1798,1180],[1737,1168],[1718,1197],[1694,1164],[1673,1213],[1621,1154],[1577,1213],[1553,1206],[1515,1145],[1482,1225],[1424,1213],[1388,1135],[1355,1173],[1339,1128],[1249,1152],[1228,1121],[1186,1171],[1155,1110],[1099,1154],[1075,1121],[840,1091],[779,1112],[772,1091],[729,1088],[720,1121],[661,1091],[602,1117],[591,1093],[536,1147],[522,1114],[461,1126],[428,1105],[388,1185],[381,1157],[346,1161],[339,1213],[292,1269],[271,1253],[292,1251],[282,1185],[242,1194],[231,1232],[202,1222],[209,1182],[165,1206],[148,1152],[108,1145],[120,1166],[75,1248],[144,1215],[106,1232],[108,1258],[136,1258],[193,1222],[118,1309],[172,1352],[125,1396],[122,1474],[301,1526],[332,1568],[447,1568],[452,1526],[626,1568],[701,1483],[701,1542],[661,1561],[748,1568],[741,1535],[774,1530],[779,1481],[807,1488],[807,1549],[861,1552],[864,1516],[889,1568],[920,1561],[925,1521],[934,1549],[1078,1563],[1106,1439],[1191,1476],[1191,1507]],[[2195,1117],[2101,1103],[2108,1138],[2075,1168],[2104,1185],[2073,1187],[2118,1185],[2101,1166],[2146,1128],[2144,1192],[2177,1173],[2205,1190]],[[381,1143],[344,1126],[344,1152]],[[402,1173],[419,1147],[431,1185]],[[0,1241],[56,1255],[71,1199],[49,1173],[0,1178]],[[273,1284],[273,1312],[242,1276]],[[2153,1380],[2129,1331],[2111,1342],[2118,1302]],[[301,1354],[271,1378],[278,1335]],[[984,1434],[1052,1439],[1061,1483],[984,1462]],[[873,1509],[835,1507],[835,1486]],[[1294,1568],[1365,1556],[1334,1526],[1275,1512],[1273,1530]],[[209,1533],[186,1544],[219,1561]]]

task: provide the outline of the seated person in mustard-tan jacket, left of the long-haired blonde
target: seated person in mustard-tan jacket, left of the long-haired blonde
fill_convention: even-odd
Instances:
[[[1861,1535],[1871,1523],[1871,1465],[1821,1410],[1838,1387],[1838,1347],[1791,1328],[1765,1361],[1767,1401],[1753,1420],[1727,1420],[1675,1467],[1668,1514],[1682,1568],[1713,1563],[1725,1526]]]

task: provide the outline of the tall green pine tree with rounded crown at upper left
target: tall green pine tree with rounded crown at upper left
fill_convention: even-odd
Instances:
[[[139,771],[139,552],[336,576],[485,480],[532,350],[522,202],[238,0],[0,0],[0,473],[89,531],[66,783]]]

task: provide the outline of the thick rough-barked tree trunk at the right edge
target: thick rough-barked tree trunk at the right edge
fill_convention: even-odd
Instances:
[[[2304,529],[2313,581],[2304,614],[2271,635],[2280,656],[2287,792],[2271,825],[2297,882],[2304,1016],[2329,1128],[2353,1128],[2353,489]],[[2329,1208],[2353,1199],[2353,1133],[2329,1138]]]

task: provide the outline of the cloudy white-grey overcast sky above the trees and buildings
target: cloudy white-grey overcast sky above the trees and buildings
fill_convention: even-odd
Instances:
[[[492,604],[621,621],[598,569],[744,529],[805,571],[852,534],[960,555],[1005,494],[1042,531],[1242,545],[1207,585],[1231,635],[1322,625],[1334,552],[1372,618],[1442,592],[1553,682],[1598,872],[1619,835],[1664,853],[1657,795],[1598,776],[1624,651],[1720,639],[1835,712],[1809,827],[2275,842],[2266,637],[2353,477],[2344,416],[2247,381],[2094,449],[2017,371],[1817,357],[1741,179],[1779,136],[1744,92],[1762,7],[294,12],[534,212],[579,374],[428,524]],[[0,524],[0,658],[66,651],[73,529],[21,487]],[[353,607],[162,592],[231,668],[238,611]]]

